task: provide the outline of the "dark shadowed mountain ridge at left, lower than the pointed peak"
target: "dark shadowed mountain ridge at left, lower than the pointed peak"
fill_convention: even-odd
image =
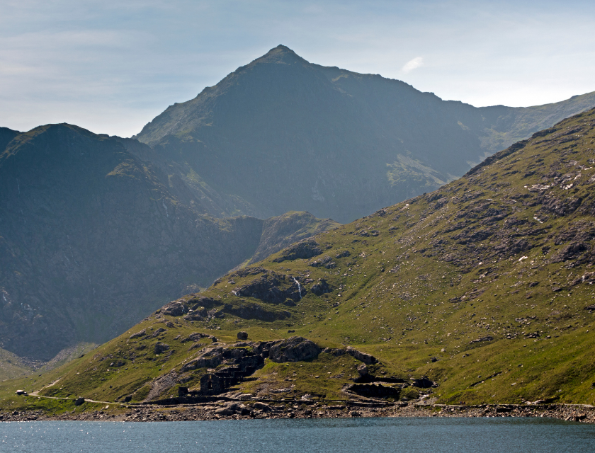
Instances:
[[[71,125],[0,130],[0,343],[49,360],[103,343],[164,302],[335,226],[203,214],[135,140]]]

